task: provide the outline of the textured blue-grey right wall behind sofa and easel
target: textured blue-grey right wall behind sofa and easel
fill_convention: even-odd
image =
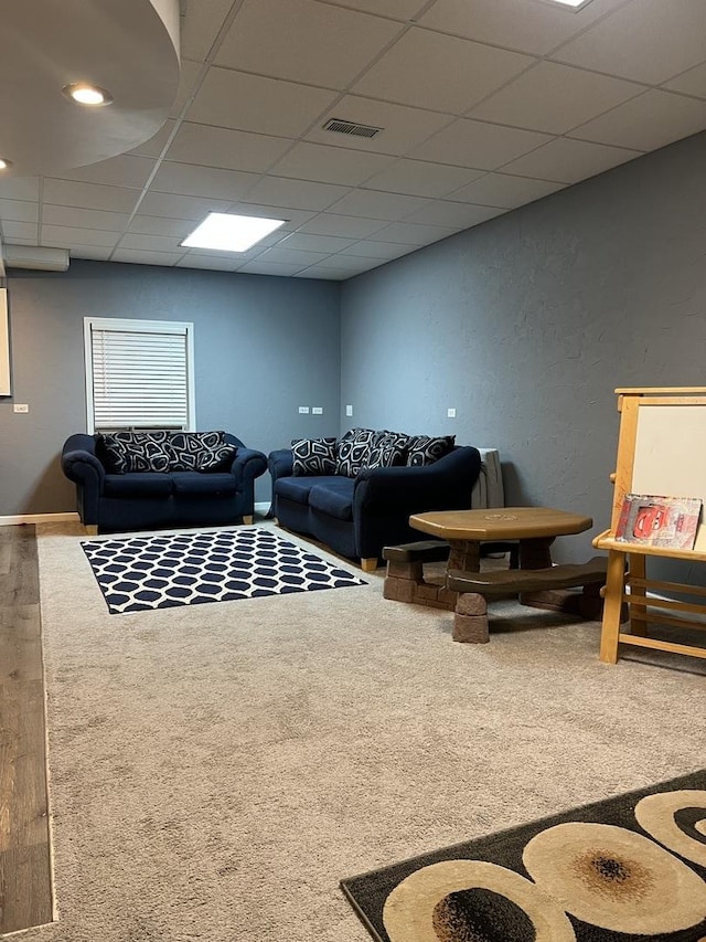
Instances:
[[[345,283],[342,423],[498,447],[509,504],[607,527],[613,389],[706,384],[705,167],[703,134]]]

